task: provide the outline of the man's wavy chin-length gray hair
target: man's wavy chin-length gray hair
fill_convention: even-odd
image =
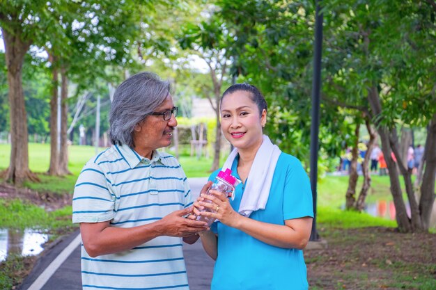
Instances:
[[[170,83],[152,72],[140,72],[116,88],[109,113],[112,144],[134,147],[133,131],[168,97]]]

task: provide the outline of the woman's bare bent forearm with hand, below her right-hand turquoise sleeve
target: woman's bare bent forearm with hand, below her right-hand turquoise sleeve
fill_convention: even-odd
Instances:
[[[209,191],[209,193],[212,194],[201,195],[201,197],[212,202],[199,202],[199,204],[214,211],[217,207],[219,207],[219,209],[217,213],[201,211],[200,214],[202,216],[218,218],[224,225],[240,229],[242,232],[253,236],[259,241],[280,248],[296,248],[302,250],[306,247],[311,235],[311,217],[307,216],[304,218],[285,220],[285,225],[263,223],[238,214],[233,210],[227,198],[219,193],[219,191]]]

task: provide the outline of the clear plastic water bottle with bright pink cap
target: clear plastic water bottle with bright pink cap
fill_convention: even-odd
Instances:
[[[238,185],[238,179],[232,176],[232,170],[227,168],[225,171],[220,171],[215,178],[214,183],[210,186],[208,192],[206,194],[210,194],[209,191],[211,189],[215,191],[221,191],[226,195],[226,198],[231,198],[232,200],[235,198],[235,186]],[[204,200],[204,202],[211,202],[210,200]],[[207,207],[203,211],[209,211],[215,213],[215,209],[208,209]],[[197,216],[197,220],[201,220],[202,222],[208,223],[211,225],[215,218],[208,216]]]

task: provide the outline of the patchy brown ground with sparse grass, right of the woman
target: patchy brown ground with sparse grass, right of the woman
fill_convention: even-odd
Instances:
[[[311,289],[436,289],[436,234],[393,228],[324,229],[304,253]]]

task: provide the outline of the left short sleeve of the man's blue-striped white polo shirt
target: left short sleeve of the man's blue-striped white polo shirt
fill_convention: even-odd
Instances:
[[[81,170],[72,199],[73,223],[100,223],[114,218],[116,197],[102,168],[88,161]]]

